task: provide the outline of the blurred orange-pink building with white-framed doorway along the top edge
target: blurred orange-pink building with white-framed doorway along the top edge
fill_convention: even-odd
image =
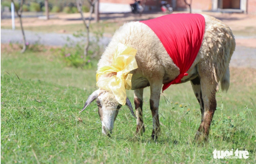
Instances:
[[[161,0],[144,0],[145,11],[160,10]],[[188,6],[184,0],[165,0],[175,10],[187,10]],[[128,9],[129,4],[134,3],[134,0],[100,0],[102,5],[114,5],[114,10],[117,10],[118,6],[123,9]],[[187,0],[190,3],[190,0]],[[125,7],[126,6],[126,7]],[[246,13],[256,14],[256,0],[193,0],[192,11],[216,11],[216,12],[229,12],[229,13]],[[114,12],[113,10],[113,12]],[[120,9],[119,9],[120,10]]]

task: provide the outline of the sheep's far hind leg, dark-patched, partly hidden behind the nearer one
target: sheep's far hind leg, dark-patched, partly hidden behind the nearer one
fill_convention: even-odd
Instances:
[[[196,77],[193,80],[190,81],[194,94],[196,95],[197,101],[200,104],[200,109],[201,109],[201,122],[203,121],[203,116],[204,116],[204,100],[202,98],[202,91],[201,91],[201,84],[200,84],[200,78]]]

